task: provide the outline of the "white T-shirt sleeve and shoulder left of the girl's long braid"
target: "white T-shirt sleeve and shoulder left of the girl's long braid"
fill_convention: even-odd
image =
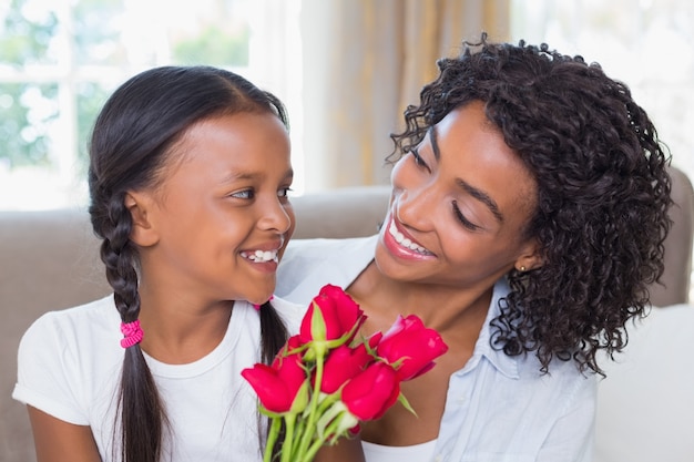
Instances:
[[[24,332],[12,397],[74,424],[90,424],[123,362],[113,297],[49,311]],[[105,401],[104,401],[105,402]]]

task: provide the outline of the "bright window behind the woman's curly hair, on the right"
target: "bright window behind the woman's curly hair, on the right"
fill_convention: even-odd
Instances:
[[[694,181],[694,14],[690,0],[513,0],[513,41],[596,61],[649,113]]]

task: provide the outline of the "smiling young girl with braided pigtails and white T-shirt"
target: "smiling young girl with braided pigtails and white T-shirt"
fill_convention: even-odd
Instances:
[[[261,459],[241,370],[302,315],[268,301],[292,176],[283,104],[236,74],[160,68],[114,92],[89,167],[113,295],[44,315],[19,350],[40,462]]]

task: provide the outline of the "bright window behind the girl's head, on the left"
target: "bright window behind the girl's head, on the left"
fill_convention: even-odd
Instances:
[[[10,0],[0,4],[0,209],[86,203],[86,143],[111,92],[164,64],[212,64],[295,117],[298,0]],[[273,58],[268,57],[272,50]],[[285,57],[284,60],[276,55]],[[302,160],[294,156],[295,165]],[[300,168],[297,168],[300,189]]]

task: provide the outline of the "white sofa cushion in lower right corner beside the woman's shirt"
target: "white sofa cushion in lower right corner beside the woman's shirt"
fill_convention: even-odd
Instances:
[[[653,308],[598,386],[593,462],[694,460],[694,306]]]

